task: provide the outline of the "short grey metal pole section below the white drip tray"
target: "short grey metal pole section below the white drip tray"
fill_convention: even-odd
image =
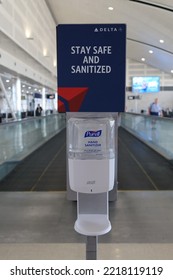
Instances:
[[[87,236],[86,260],[97,260],[98,236]]]

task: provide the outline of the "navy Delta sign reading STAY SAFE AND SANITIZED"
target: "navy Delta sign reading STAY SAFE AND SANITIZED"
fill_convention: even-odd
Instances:
[[[121,112],[126,25],[57,26],[59,112]]]

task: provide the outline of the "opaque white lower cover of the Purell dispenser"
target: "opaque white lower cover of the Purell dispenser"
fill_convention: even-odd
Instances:
[[[110,191],[114,186],[115,159],[69,159],[69,184],[83,193]]]

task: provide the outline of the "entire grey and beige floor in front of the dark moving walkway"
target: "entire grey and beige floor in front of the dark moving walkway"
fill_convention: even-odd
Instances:
[[[112,230],[98,238],[98,259],[173,259],[173,192],[118,192]],[[0,259],[85,259],[74,231],[76,202],[66,192],[0,196]]]

